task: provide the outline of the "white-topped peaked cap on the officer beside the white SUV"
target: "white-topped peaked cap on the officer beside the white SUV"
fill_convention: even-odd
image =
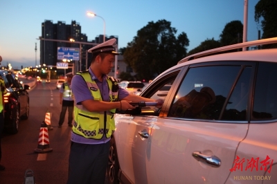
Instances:
[[[114,48],[114,45],[116,44],[116,39],[109,39],[106,42],[103,42],[102,44],[99,44],[97,46],[93,46],[93,48],[90,48],[87,50],[88,53],[92,54],[99,54],[99,53],[111,53],[114,55],[119,55],[116,52],[116,49]]]

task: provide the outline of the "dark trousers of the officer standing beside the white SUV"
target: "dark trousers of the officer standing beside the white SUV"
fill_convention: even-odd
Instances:
[[[109,142],[87,145],[71,142],[67,184],[104,184],[109,159]]]

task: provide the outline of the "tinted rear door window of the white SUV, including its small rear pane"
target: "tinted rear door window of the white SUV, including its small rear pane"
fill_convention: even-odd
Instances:
[[[251,67],[243,69],[242,66],[190,68],[175,95],[168,116],[204,120],[246,120],[250,74]],[[230,100],[225,102],[230,95]],[[238,116],[234,118],[234,114]]]

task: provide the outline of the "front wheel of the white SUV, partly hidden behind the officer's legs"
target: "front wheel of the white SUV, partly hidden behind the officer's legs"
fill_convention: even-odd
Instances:
[[[109,146],[109,163],[107,167],[107,177],[109,184],[119,183],[118,181],[118,171],[119,171],[119,163],[116,152],[116,142],[114,138],[110,140]]]

